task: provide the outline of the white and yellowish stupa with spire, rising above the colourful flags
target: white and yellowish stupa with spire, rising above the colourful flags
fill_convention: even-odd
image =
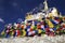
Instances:
[[[56,8],[49,8],[47,0],[44,0],[43,4],[44,4],[44,9],[40,10],[41,12],[38,12],[37,14],[27,13],[25,23],[27,20],[39,19],[39,18],[43,18],[43,17],[58,16]],[[52,9],[52,11],[51,11],[51,9]]]

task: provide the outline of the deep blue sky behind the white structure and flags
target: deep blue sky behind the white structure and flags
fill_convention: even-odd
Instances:
[[[39,6],[44,0],[0,0],[0,31],[3,26],[14,23],[17,18],[24,19],[27,12]],[[65,14],[65,0],[48,0],[49,6],[55,6],[63,15]]]

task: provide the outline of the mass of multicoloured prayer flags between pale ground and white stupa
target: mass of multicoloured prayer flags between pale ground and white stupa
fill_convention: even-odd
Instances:
[[[56,35],[65,33],[65,20],[62,17],[47,17],[44,19],[32,19],[26,24],[14,23],[5,26],[1,37],[34,37],[34,35]]]

